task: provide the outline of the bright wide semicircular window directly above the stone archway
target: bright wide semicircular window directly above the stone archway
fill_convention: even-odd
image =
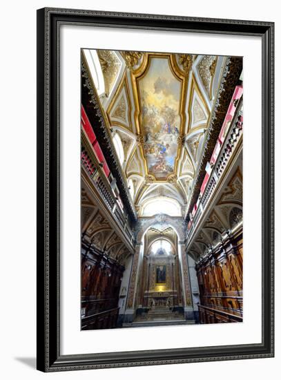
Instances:
[[[158,197],[148,200],[142,216],[153,216],[157,213],[166,213],[169,216],[182,216],[180,203],[175,199]]]

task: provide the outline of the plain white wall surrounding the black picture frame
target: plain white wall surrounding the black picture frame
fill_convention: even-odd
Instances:
[[[2,379],[204,379],[268,378],[280,372],[280,303],[276,305],[276,350],[273,359],[192,363],[153,367],[121,368],[43,374],[35,370],[36,310],[36,9],[43,6],[123,12],[162,13],[197,17],[275,21],[275,67],[280,67],[281,21],[278,1],[225,0],[30,0],[1,3],[1,367]],[[160,6],[159,6],[160,5]],[[276,100],[281,102],[280,72],[275,73]],[[276,106],[278,109],[278,107]],[[276,113],[275,142],[280,135]],[[280,193],[280,149],[276,150],[276,195]],[[277,196],[276,196],[277,198]],[[275,201],[275,212],[280,201]],[[276,218],[278,219],[278,218]],[[276,236],[280,222],[276,220]],[[276,267],[280,267],[280,241],[276,242]],[[280,298],[280,276],[275,292]],[[276,298],[278,299],[278,298]],[[273,377],[275,378],[275,377]]]

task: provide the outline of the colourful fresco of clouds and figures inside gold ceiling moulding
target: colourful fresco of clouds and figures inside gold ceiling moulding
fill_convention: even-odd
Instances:
[[[180,132],[180,82],[167,58],[152,58],[146,76],[139,81],[144,155],[148,173],[157,180],[172,174]]]

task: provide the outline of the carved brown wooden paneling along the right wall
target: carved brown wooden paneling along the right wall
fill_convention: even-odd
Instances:
[[[242,245],[241,231],[229,236],[197,263],[201,323],[242,321]]]

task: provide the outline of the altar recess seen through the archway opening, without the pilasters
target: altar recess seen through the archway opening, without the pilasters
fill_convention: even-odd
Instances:
[[[184,321],[182,274],[175,230],[166,226],[162,229],[151,227],[143,240],[135,323]]]

